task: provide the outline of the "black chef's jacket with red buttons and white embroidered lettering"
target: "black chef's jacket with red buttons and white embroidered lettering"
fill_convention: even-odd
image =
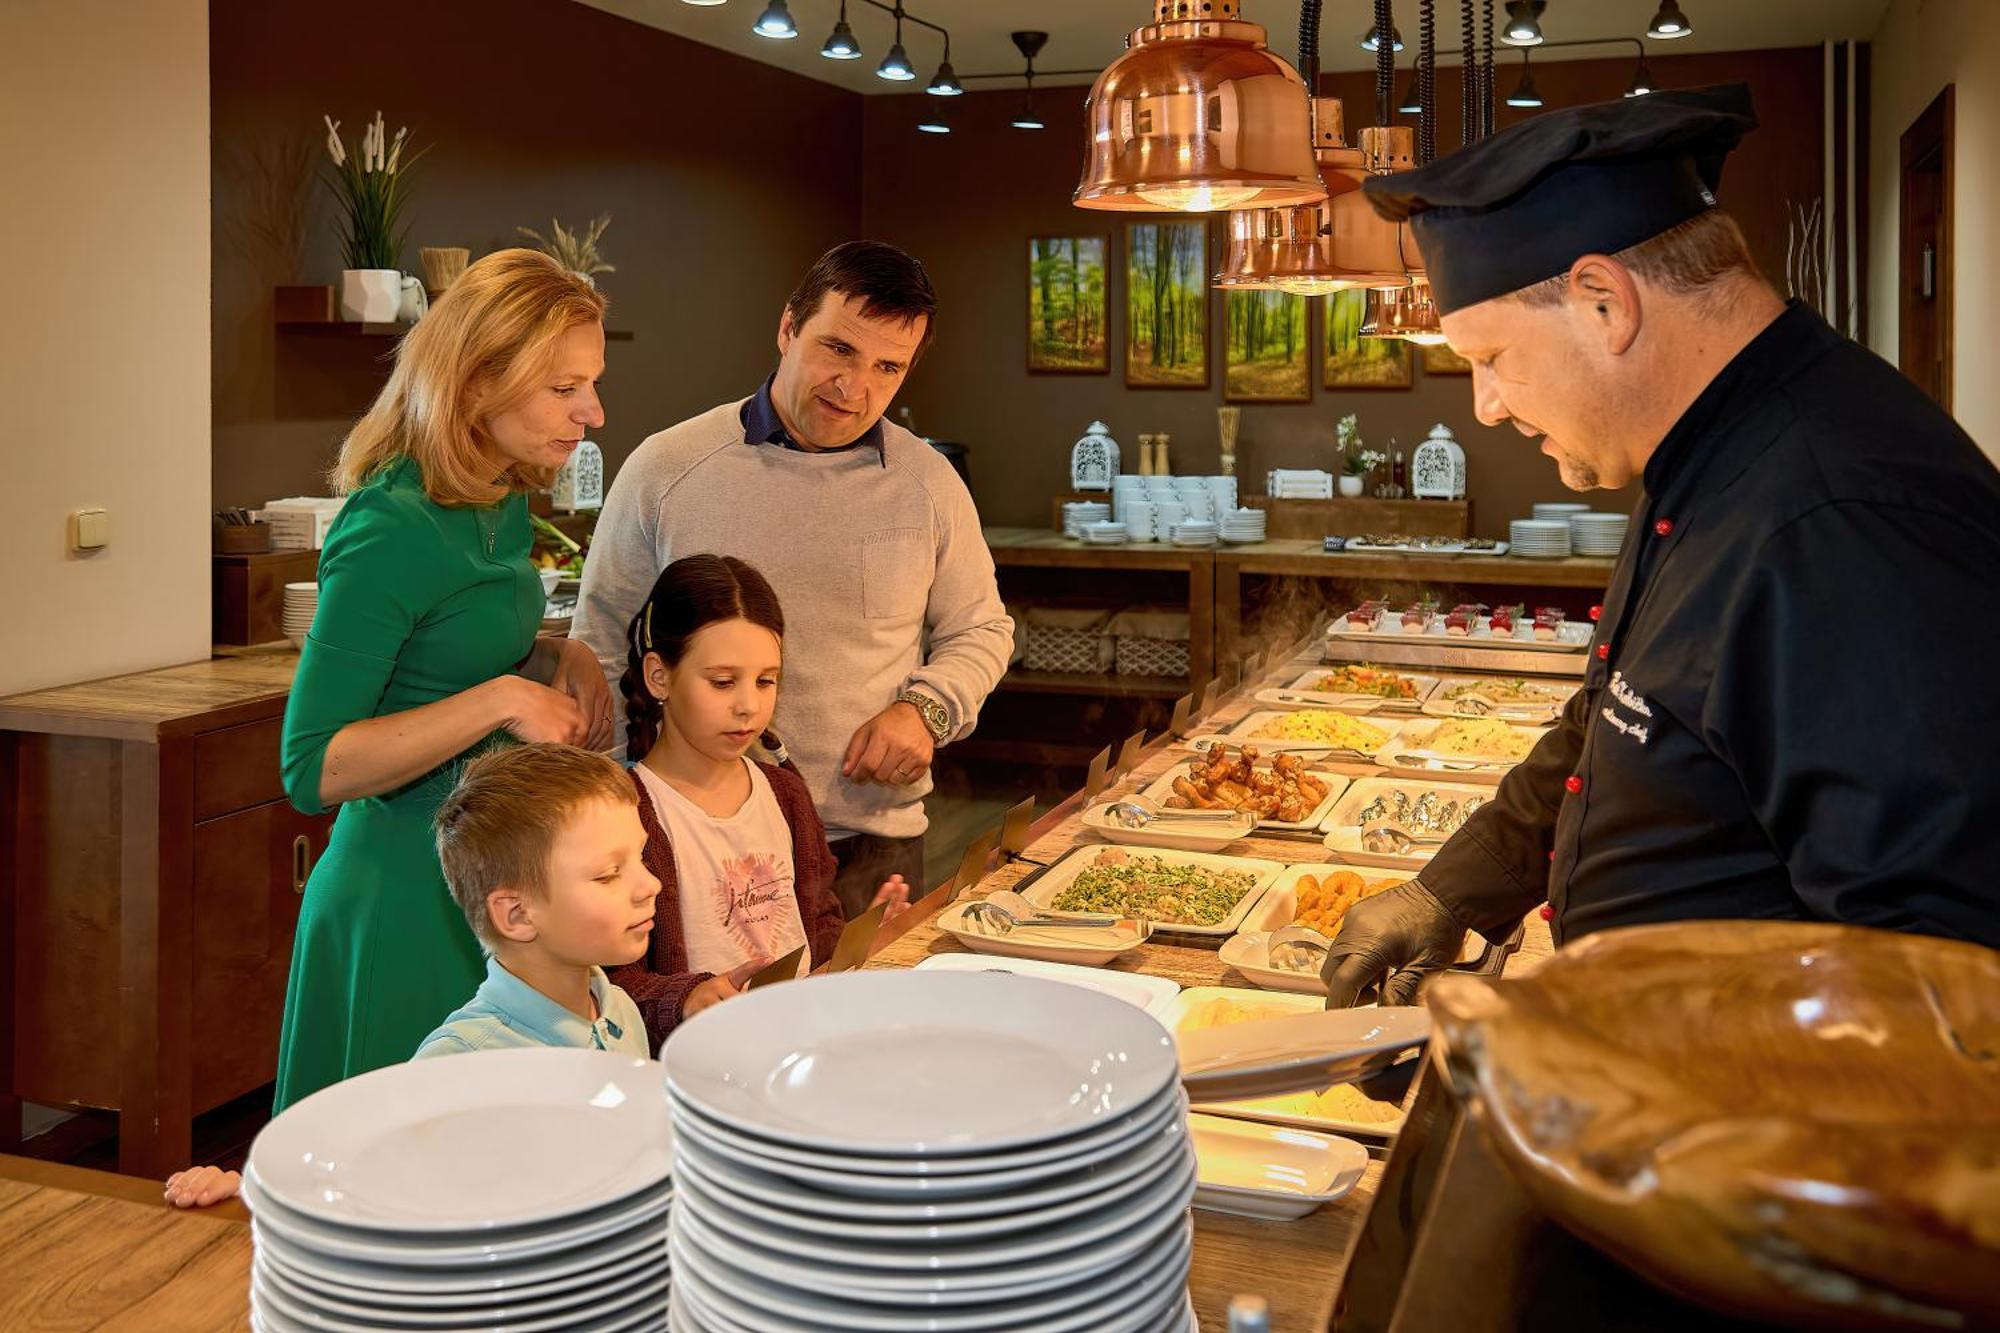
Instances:
[[[1504,933],[1804,919],[2000,945],[2000,472],[1792,306],[1646,464],[1584,689],[1422,873]]]

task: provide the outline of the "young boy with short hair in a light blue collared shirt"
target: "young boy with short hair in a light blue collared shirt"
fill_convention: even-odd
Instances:
[[[494,751],[466,765],[436,831],[444,883],[486,947],[486,981],[412,1059],[504,1047],[650,1057],[638,1005],[604,975],[646,957],[660,895],[624,769],[568,745]],[[166,1201],[206,1207],[238,1185],[234,1171],[194,1167],[166,1181]]]

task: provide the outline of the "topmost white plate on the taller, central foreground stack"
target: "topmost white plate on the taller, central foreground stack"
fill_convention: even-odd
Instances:
[[[748,1133],[918,1157],[1062,1139],[1178,1073],[1158,1023],[1110,997],[918,971],[750,991],[674,1029],[662,1059],[674,1097]]]

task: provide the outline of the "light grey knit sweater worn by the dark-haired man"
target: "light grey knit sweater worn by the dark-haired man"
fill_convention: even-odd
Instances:
[[[916,837],[930,777],[856,785],[840,761],[902,689],[942,701],[950,739],[964,737],[1006,673],[1014,624],[972,496],[950,462],[890,422],[882,458],[874,448],[812,454],[746,444],[740,410],[726,402],[648,436],[618,468],[570,632],[620,699],[626,626],[660,570],[698,552],[748,560],[784,606],[772,727],[828,835]]]

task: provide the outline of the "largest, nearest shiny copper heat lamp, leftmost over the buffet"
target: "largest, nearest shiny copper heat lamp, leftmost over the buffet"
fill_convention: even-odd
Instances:
[[[1326,198],[1306,82],[1238,0],[1154,0],[1090,88],[1078,208],[1214,212]]]

